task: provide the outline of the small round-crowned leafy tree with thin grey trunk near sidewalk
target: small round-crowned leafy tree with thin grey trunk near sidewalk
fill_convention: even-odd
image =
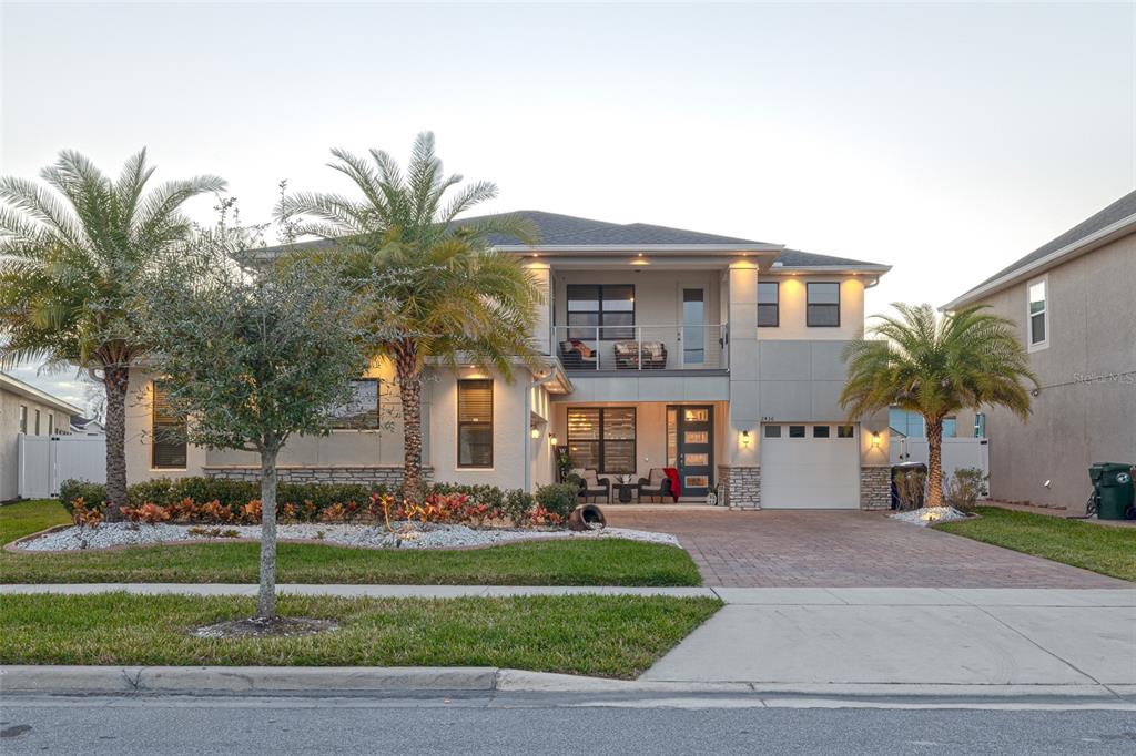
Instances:
[[[294,261],[233,264],[239,229],[203,233],[148,300],[152,369],[186,420],[187,440],[260,456],[259,620],[276,616],[276,463],[294,435],[325,435],[367,369],[340,274]]]

